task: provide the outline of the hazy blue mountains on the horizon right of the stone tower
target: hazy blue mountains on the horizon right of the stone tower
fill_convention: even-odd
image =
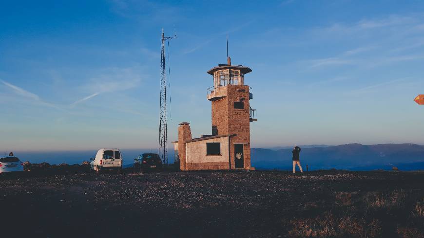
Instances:
[[[365,146],[361,144],[347,144],[340,146],[300,146],[301,164],[306,170],[317,169],[350,169],[373,170],[392,169],[400,170],[424,169],[424,146],[415,144],[383,144]],[[291,146],[275,150],[274,148],[252,148],[252,166],[266,169],[291,170]]]

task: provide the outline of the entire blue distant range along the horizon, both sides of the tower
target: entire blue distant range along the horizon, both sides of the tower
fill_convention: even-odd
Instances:
[[[400,170],[424,170],[424,146],[415,144],[384,144],[364,146],[348,144],[341,146],[308,145],[300,146],[300,162],[306,170],[350,169],[373,170],[387,169],[392,166]],[[291,146],[273,148],[252,148],[253,167],[263,169],[291,170]],[[122,149],[124,165],[132,165],[138,154],[148,153],[150,149]],[[13,151],[22,161],[50,164],[81,164],[90,161],[96,150],[86,151]],[[153,150],[155,152],[155,150]],[[169,150],[169,162],[173,163],[173,150]]]

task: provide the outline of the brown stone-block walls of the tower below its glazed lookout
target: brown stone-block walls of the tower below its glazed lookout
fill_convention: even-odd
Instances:
[[[231,168],[234,167],[234,143],[244,145],[244,168],[251,167],[249,86],[227,85],[227,96],[212,101],[212,132],[217,134],[236,134],[231,137]],[[244,109],[234,109],[234,102],[243,102]]]

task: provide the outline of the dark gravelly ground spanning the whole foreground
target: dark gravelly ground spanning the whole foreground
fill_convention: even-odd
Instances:
[[[24,172],[0,184],[1,237],[424,234],[421,172]]]

